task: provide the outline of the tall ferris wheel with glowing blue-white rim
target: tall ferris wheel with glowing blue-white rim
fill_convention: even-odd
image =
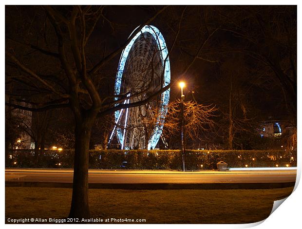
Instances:
[[[170,61],[165,39],[155,26],[146,25],[122,52],[114,93],[124,95],[122,103],[129,104],[148,98],[169,83]],[[108,145],[115,134],[122,150],[154,149],[162,134],[169,97],[170,89],[142,106],[116,111]]]

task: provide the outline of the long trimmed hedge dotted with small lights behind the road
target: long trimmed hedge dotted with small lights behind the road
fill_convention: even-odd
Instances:
[[[38,164],[34,150],[13,150],[8,167],[73,168],[74,150],[45,150]],[[216,170],[216,163],[225,161],[229,168],[296,167],[296,151],[200,151],[187,150],[186,170]],[[90,150],[90,169],[181,170],[179,150]]]

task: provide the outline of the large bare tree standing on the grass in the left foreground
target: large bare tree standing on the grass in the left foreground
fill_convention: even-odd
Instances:
[[[121,101],[125,100],[126,95],[101,97],[96,83],[107,79],[102,75],[101,69],[121,53],[144,25],[149,24],[166,8],[167,6],[157,9],[120,47],[97,61],[91,60],[86,48],[90,47],[89,38],[99,19],[106,18],[104,6],[37,6],[27,8],[27,12],[22,7],[9,8],[20,15],[19,20],[15,19],[16,23],[20,23],[18,26],[25,26],[19,31],[23,33],[21,40],[11,31],[7,34],[5,55],[6,66],[9,68],[6,69],[6,78],[10,82],[26,85],[29,93],[22,100],[27,105],[34,106],[10,102],[6,105],[34,112],[69,107],[75,117],[75,164],[70,218],[90,217],[88,150],[96,117],[112,114],[122,108],[143,105],[170,87],[169,84],[160,88],[144,100],[123,104]],[[28,24],[21,23],[25,12],[31,20]],[[39,62],[34,61],[37,58]],[[45,99],[42,102],[33,101],[34,92],[43,94]],[[132,97],[136,94],[131,92]]]

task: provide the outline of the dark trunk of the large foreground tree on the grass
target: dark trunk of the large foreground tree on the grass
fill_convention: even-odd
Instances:
[[[75,167],[73,196],[69,218],[90,217],[88,203],[88,158],[92,125],[85,121],[76,121],[75,130]]]

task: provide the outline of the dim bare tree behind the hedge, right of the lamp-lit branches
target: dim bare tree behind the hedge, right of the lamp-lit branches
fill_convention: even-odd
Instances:
[[[236,68],[234,59],[237,61]],[[234,149],[234,146],[242,148],[242,136],[254,131],[253,122],[258,112],[250,100],[257,87],[255,78],[259,76],[253,77],[252,69],[246,67],[242,63],[246,60],[242,59],[238,56],[225,60],[220,66],[216,84],[211,89],[220,92],[211,98],[217,105],[219,114],[215,125],[216,134],[222,136],[229,150]]]

